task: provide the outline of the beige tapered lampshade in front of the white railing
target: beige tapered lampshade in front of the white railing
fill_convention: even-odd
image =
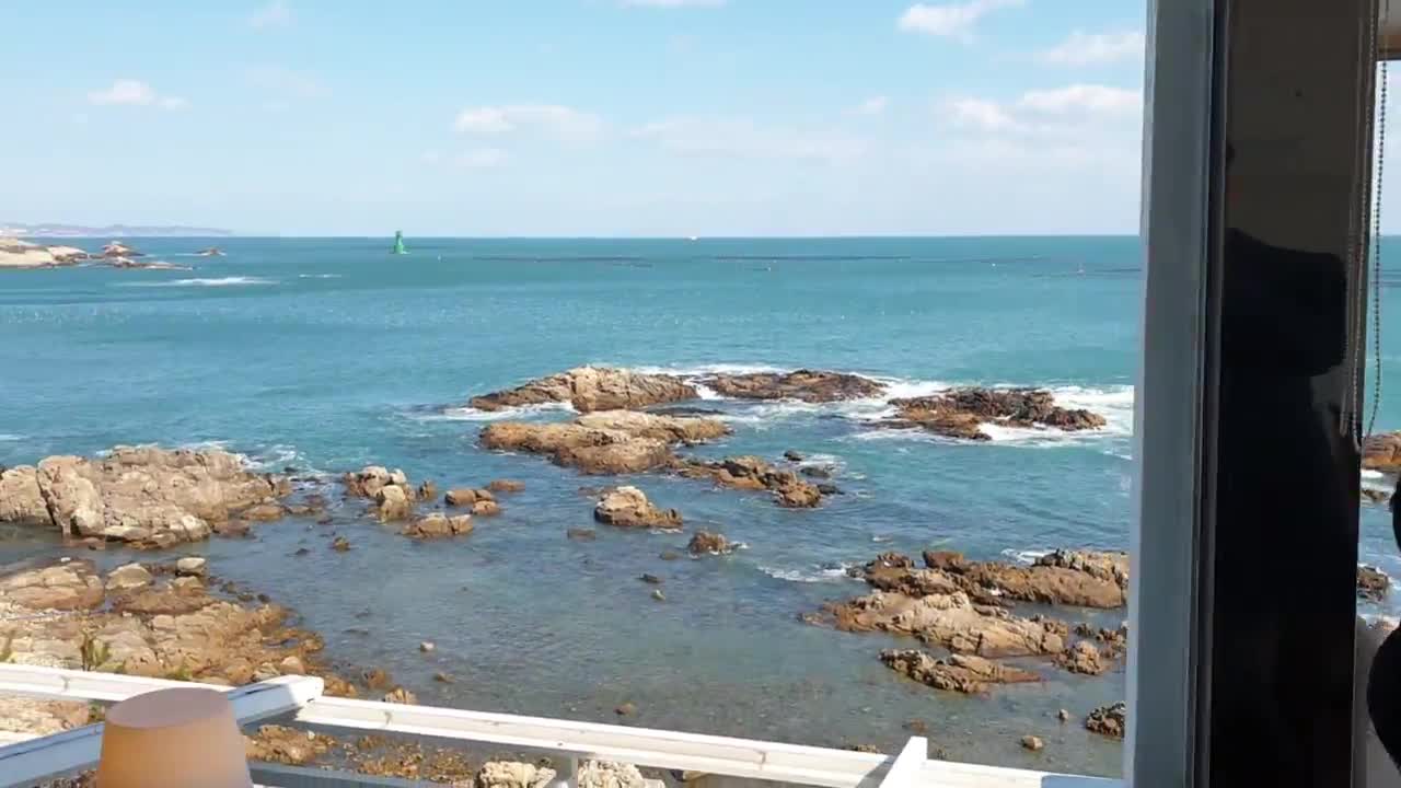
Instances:
[[[98,788],[249,788],[244,736],[223,693],[157,690],[106,712]]]

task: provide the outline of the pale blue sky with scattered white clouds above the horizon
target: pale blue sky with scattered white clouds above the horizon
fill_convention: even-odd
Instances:
[[[0,3],[0,220],[1132,233],[1133,0]]]

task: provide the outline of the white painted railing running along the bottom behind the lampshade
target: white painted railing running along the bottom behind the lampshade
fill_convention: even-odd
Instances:
[[[0,665],[0,693],[57,700],[119,701],[179,681]],[[188,684],[184,684],[188,686]],[[297,722],[453,739],[548,753],[555,788],[569,788],[579,761],[601,759],[639,767],[712,775],[713,787],[751,781],[822,788],[1121,788],[1117,780],[929,760],[927,742],[911,739],[898,756],[804,747],[511,714],[402,705],[322,695],[321,679],[280,677],[227,688],[240,724],[293,715]],[[27,787],[97,764],[101,725],[0,747],[0,788]],[[322,777],[326,773],[321,773]],[[354,781],[346,774],[346,784]]]

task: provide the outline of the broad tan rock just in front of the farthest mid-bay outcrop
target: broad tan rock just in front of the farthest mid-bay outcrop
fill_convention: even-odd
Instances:
[[[569,423],[499,422],[482,429],[486,449],[548,454],[586,474],[629,474],[675,463],[671,447],[727,435],[716,419],[611,411]]]

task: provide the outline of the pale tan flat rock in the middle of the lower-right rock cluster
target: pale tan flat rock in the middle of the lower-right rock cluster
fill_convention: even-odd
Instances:
[[[1002,607],[975,604],[962,592],[911,597],[876,592],[828,606],[836,628],[915,635],[954,653],[1038,656],[1065,651],[1068,627],[1058,621],[1019,618]]]

